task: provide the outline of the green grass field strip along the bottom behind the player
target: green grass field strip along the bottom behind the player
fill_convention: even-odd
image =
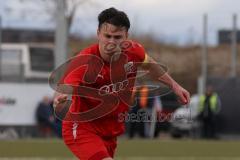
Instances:
[[[1,160],[73,159],[61,140],[0,141]],[[116,160],[240,160],[240,141],[125,140],[120,139]]]

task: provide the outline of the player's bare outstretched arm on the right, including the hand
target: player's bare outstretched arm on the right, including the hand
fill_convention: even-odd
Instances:
[[[163,66],[157,64],[157,62],[149,55],[145,54],[143,62],[143,68],[146,68],[150,74],[156,77],[159,81],[168,85],[173,92],[178,96],[181,104],[188,104],[190,102],[189,92],[180,86],[163,68]]]

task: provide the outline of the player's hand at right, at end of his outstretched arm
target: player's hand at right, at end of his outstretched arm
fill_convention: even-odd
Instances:
[[[182,88],[179,84],[176,83],[173,85],[173,91],[178,96],[178,101],[180,104],[189,104],[190,94],[186,89]]]

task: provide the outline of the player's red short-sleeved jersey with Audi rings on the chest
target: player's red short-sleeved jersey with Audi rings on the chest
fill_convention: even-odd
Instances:
[[[102,103],[102,106],[94,112],[97,116],[96,119],[91,119],[87,122],[77,122],[79,129],[87,129],[102,137],[114,137],[124,132],[124,121],[119,121],[118,115],[128,111],[128,102],[131,98],[129,95],[132,92],[131,90],[125,92],[126,88],[124,87],[129,85],[129,83],[134,85],[137,68],[133,64],[143,62],[145,59],[144,48],[137,42],[131,41],[131,43],[131,47],[123,49],[119,55],[119,60],[113,63],[112,61],[106,62],[103,60],[98,44],[84,49],[76,56],[87,56],[87,60],[83,60],[86,64],[81,64],[81,67],[76,67],[71,71],[64,78],[64,83],[88,87],[89,93],[79,89],[77,94],[72,96],[69,112],[73,114],[87,112]],[[81,91],[84,92],[84,96],[82,94],[79,96],[78,92]],[[99,94],[102,94],[101,96],[104,97],[103,101],[108,101],[108,103],[104,104],[104,102],[101,102]],[[94,98],[95,96],[98,98]],[[105,105],[113,106],[110,110],[107,108],[108,111],[104,111]],[[63,128],[65,125],[72,124],[73,122],[63,121]]]

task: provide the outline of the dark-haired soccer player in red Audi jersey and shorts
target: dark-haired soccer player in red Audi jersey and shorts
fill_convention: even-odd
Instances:
[[[119,121],[118,116],[129,108],[132,93],[129,89],[133,87],[136,77],[134,64],[149,68],[152,75],[171,87],[182,104],[189,103],[190,99],[188,91],[167,73],[163,74],[139,43],[128,40],[130,22],[124,12],[115,8],[106,9],[99,14],[98,22],[98,44],[81,51],[72,61],[75,68],[71,68],[70,64],[72,71],[68,70],[68,75],[63,78],[65,84],[80,86],[79,95],[84,95],[72,96],[70,109],[62,125],[65,144],[81,160],[113,159],[117,136],[125,130],[124,122]],[[88,67],[77,68],[77,62],[84,56],[87,57],[85,61],[88,62]],[[91,74],[93,77],[89,77]],[[93,92],[94,89],[99,92]],[[87,95],[92,97],[88,98]],[[103,102],[94,100],[94,96],[102,96]],[[66,94],[55,93],[55,107],[66,101]],[[98,109],[94,110],[94,107]],[[77,114],[81,112],[84,114]],[[69,118],[71,115],[75,115],[75,118]],[[76,115],[79,119],[76,119]]]

